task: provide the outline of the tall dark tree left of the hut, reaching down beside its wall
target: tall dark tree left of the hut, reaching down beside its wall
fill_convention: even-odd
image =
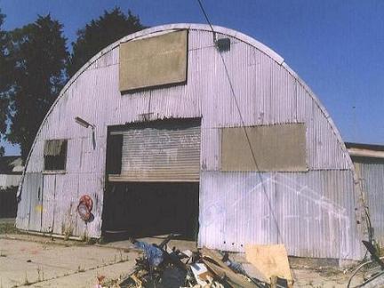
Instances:
[[[25,160],[45,114],[66,82],[68,60],[63,26],[48,14],[9,33],[8,71],[11,88],[6,139],[20,144]]]

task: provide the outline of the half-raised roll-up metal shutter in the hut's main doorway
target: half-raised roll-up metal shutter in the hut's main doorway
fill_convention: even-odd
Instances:
[[[110,180],[188,182],[200,173],[200,124],[158,122],[123,133],[122,169]]]

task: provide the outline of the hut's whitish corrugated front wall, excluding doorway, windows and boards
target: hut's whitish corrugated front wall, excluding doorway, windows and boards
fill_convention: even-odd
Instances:
[[[180,28],[189,29],[187,84],[121,95],[118,44]],[[36,230],[30,199],[38,180],[28,175],[38,175],[44,183],[41,231],[99,237],[108,125],[138,122],[148,113],[150,120],[201,117],[200,245],[242,251],[245,243],[284,243],[296,256],[361,257],[353,165],[330,116],[275,52],[236,31],[214,29],[231,41],[222,56],[245,124],[306,124],[309,171],[220,172],[220,129],[241,122],[212,31],[191,24],[149,28],[100,52],[61,92],[28,158],[18,228]],[[91,130],[76,124],[76,116],[95,124],[95,149]],[[68,139],[65,174],[42,174],[44,140],[50,139]],[[84,194],[94,201],[88,225],[76,215]]]

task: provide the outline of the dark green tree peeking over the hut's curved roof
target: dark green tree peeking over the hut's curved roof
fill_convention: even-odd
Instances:
[[[72,43],[73,52],[68,61],[68,76],[73,76],[88,60],[101,49],[114,43],[123,36],[146,28],[138,16],[128,11],[128,15],[115,8],[97,20],[92,20],[77,31],[76,42]]]

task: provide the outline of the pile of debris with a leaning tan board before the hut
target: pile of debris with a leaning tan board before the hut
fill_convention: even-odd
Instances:
[[[240,263],[229,259],[228,252],[206,247],[195,252],[170,249],[171,239],[172,235],[158,245],[132,240],[143,254],[136,260],[131,276],[124,279],[120,287],[292,287],[285,248],[283,246],[283,256],[281,247],[273,248],[282,245],[249,245],[245,249],[246,260]],[[264,251],[263,246],[267,250]],[[276,251],[280,253],[277,257]]]

